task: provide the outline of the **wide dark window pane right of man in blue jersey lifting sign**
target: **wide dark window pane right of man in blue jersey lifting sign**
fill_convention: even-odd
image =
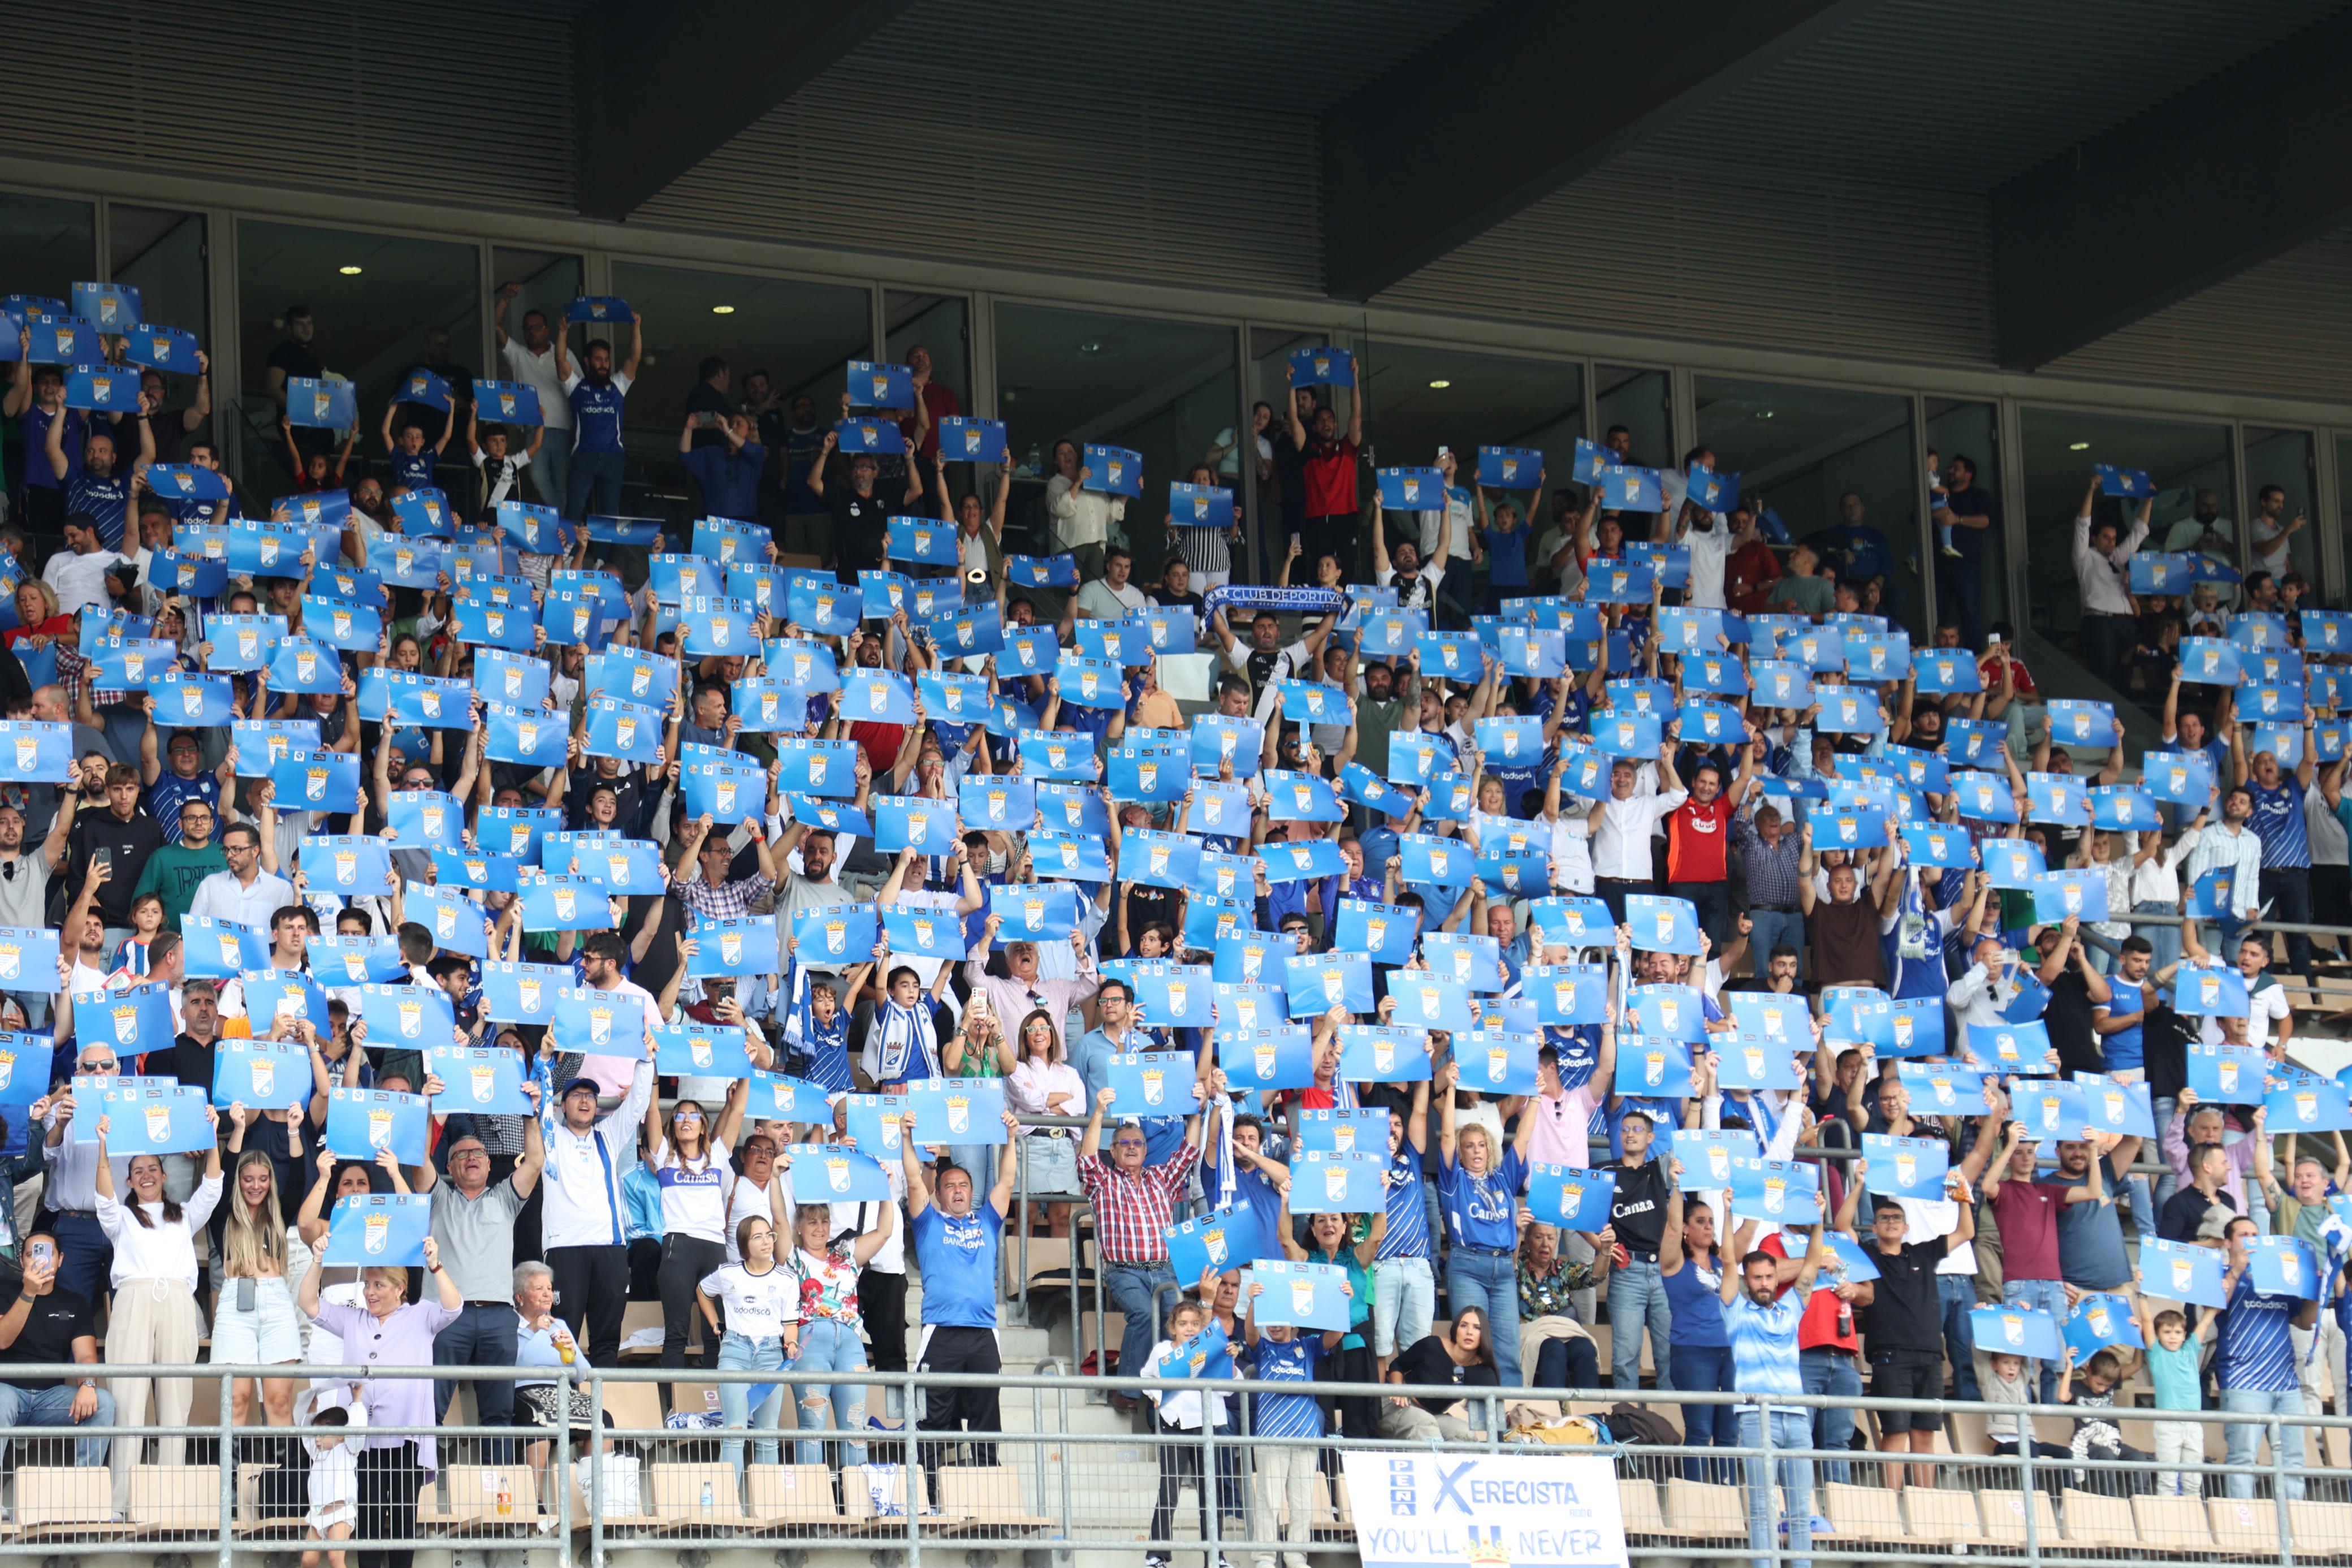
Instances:
[[[753,376],[767,381],[781,421],[762,425],[786,442],[779,461],[793,463],[793,430],[800,433],[802,458],[814,456],[814,442],[842,416],[844,367],[873,357],[873,292],[863,287],[614,261],[612,292],[644,317],[644,364],[628,393],[626,440],[649,489],[633,489],[626,505],[647,517],[687,522],[699,505],[677,437],[687,423],[687,397],[708,360],[727,362],[729,402],[743,402]],[[804,473],[804,465],[795,468],[793,477]],[[786,548],[814,555],[826,538],[816,527],[816,501],[807,496],[807,505],[793,508],[783,477],[779,470],[776,489],[786,510],[800,517],[800,531],[786,538]],[[898,480],[903,484],[903,470]],[[767,489],[762,484],[762,520],[774,527]]]

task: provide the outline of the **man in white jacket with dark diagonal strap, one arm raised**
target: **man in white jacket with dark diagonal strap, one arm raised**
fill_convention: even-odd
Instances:
[[[621,1312],[628,1307],[628,1199],[621,1175],[652,1095],[652,1060],[635,1065],[621,1105],[602,1117],[595,1079],[569,1079],[555,1088],[539,1237],[555,1274],[555,1312],[572,1326],[574,1342],[588,1347],[590,1366],[621,1361]]]

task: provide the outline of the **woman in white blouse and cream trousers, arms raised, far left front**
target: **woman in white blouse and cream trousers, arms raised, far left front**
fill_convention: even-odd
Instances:
[[[238,1110],[242,1107],[230,1107],[230,1112]],[[205,1316],[195,1309],[195,1232],[221,1201],[221,1145],[212,1145],[205,1157],[205,1178],[186,1204],[174,1204],[162,1194],[162,1154],[134,1154],[129,1164],[132,1194],[127,1204],[118,1204],[115,1166],[106,1147],[111,1124],[113,1117],[99,1117],[99,1229],[115,1246],[111,1279],[115,1302],[106,1324],[106,1359],[120,1366],[195,1366],[198,1340],[205,1338]],[[219,1114],[209,1105],[205,1124],[219,1124]],[[148,1378],[113,1380],[115,1418],[125,1427],[148,1425]],[[195,1403],[195,1382],[162,1378],[153,1382],[153,1389],[155,1425],[186,1427],[188,1408]],[[118,1509],[129,1507],[132,1462],[136,1462],[139,1450],[136,1439],[113,1446]],[[186,1465],[188,1439],[160,1439],[155,1460]]]

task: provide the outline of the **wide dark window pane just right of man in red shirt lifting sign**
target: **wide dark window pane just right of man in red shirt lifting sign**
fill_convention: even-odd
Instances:
[[[1543,454],[1545,482],[1557,480],[1555,494],[1569,494],[1576,437],[1585,433],[1585,367],[1581,362],[1374,341],[1364,348],[1364,433],[1383,465],[1418,468],[1435,463],[1437,449],[1449,447],[1458,484],[1475,489],[1479,447],[1524,447]],[[1534,538],[1529,529],[1545,534],[1552,527],[1552,505],[1536,491],[1538,477],[1529,473],[1522,484],[1486,496],[1491,508],[1510,501],[1517,512],[1512,529],[1517,538],[1503,545],[1510,564],[1501,585],[1494,583],[1496,550],[1489,543],[1468,536],[1446,541],[1449,559],[1439,595],[1451,599],[1461,616],[1472,609],[1491,609],[1503,597],[1531,592]],[[1534,512],[1529,512],[1531,505]],[[1573,520],[1573,510],[1569,517]],[[1411,522],[1409,517],[1390,517],[1390,543],[1404,538],[1399,527]],[[1414,543],[1425,555],[1437,545],[1435,512],[1421,517],[1421,536]],[[1552,585],[1548,581],[1543,590],[1550,592]],[[1454,621],[1456,616],[1449,616],[1449,623]]]

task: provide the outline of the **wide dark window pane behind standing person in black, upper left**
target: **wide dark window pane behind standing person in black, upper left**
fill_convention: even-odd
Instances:
[[[482,343],[482,252],[475,244],[409,240],[296,223],[238,223],[235,414],[242,440],[240,477],[249,496],[275,498],[294,487],[287,440],[278,428],[285,376],[325,374],[350,381],[360,428],[346,480],[388,475],[381,428],[393,390],[412,364],[473,376]],[[275,371],[275,374],[273,374]],[[228,411],[228,409],[219,409]],[[409,404],[428,444],[445,414]],[[336,447],[322,430],[299,430],[303,451]],[[463,451],[440,463],[437,480],[463,494]]]

